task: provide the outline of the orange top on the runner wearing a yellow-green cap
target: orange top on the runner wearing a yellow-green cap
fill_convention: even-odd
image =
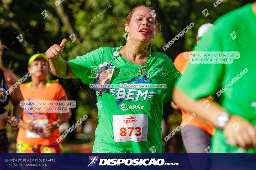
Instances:
[[[24,100],[61,100],[66,95],[65,90],[59,83],[50,83],[49,86],[42,89],[32,89],[28,86],[28,83],[24,83],[20,85],[20,90]],[[26,108],[24,108],[22,112],[22,120],[25,123],[28,121],[33,121],[33,123],[45,123],[45,121],[53,123],[57,119],[58,113],[30,113],[29,111],[26,111]],[[38,132],[36,131],[36,133]],[[53,145],[56,142],[56,139],[60,136],[61,134],[58,128],[47,137],[35,137],[31,135],[30,132],[27,132],[26,129],[21,127],[19,128],[17,141],[25,142],[29,145],[49,146]]]

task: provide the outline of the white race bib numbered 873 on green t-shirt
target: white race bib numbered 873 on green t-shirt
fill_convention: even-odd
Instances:
[[[113,115],[115,142],[147,140],[147,114]]]

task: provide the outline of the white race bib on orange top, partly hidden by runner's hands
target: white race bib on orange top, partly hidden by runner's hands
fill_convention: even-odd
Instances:
[[[27,138],[41,138],[41,137],[48,137],[47,134],[43,133],[43,127],[48,124],[48,119],[35,119],[35,120],[28,120],[28,122],[32,122],[34,124],[33,132],[27,130],[26,137]]]

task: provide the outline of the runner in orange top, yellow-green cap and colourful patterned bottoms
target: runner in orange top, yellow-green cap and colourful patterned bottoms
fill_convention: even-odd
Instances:
[[[33,72],[31,72],[33,70]],[[24,100],[39,100],[38,105],[54,103],[52,100],[68,100],[63,87],[57,82],[51,82],[47,78],[49,73],[48,59],[45,54],[35,54],[29,59],[28,71],[31,72],[31,82],[20,85]],[[40,100],[41,103],[40,103]],[[61,136],[58,127],[68,121],[71,117],[69,111],[63,111],[60,118],[58,113],[48,113],[48,111],[36,111],[33,106],[25,105],[22,119],[19,122],[19,132],[17,136],[17,153],[60,153],[63,142],[57,142]],[[49,105],[47,103],[47,105]],[[47,107],[42,107],[47,108]]]

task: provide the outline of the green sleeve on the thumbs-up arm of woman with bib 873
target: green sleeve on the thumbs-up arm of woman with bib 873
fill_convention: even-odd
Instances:
[[[102,62],[103,47],[99,47],[83,56],[77,56],[69,60],[68,64],[71,71],[81,79],[84,84],[91,84],[95,78],[95,71]]]

